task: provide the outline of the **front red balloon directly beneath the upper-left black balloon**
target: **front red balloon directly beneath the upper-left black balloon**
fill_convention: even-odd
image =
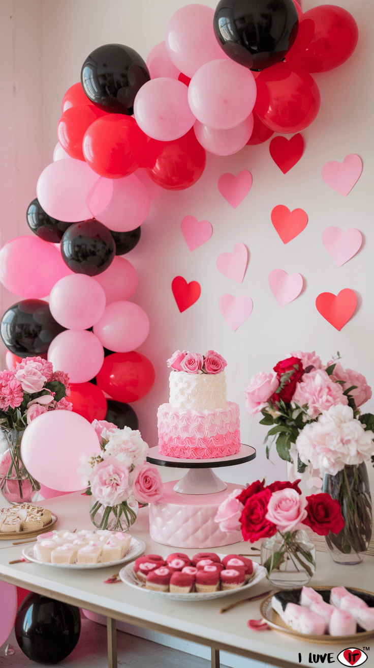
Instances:
[[[83,139],[89,166],[107,178],[123,178],[143,164],[147,135],[131,116],[105,114],[91,124]]]

